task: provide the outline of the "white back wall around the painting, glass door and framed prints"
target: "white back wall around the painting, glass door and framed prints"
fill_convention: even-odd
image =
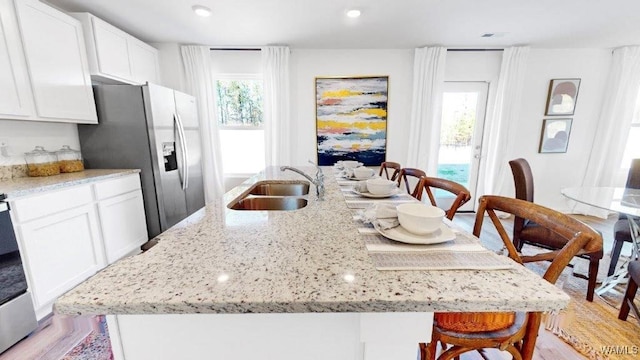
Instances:
[[[160,50],[165,85],[182,86],[179,47],[154,44]],[[502,52],[447,53],[447,81],[488,81],[489,103],[494,96]],[[536,202],[561,211],[568,203],[560,189],[579,186],[586,170],[596,122],[602,103],[602,89],[611,61],[608,49],[531,49],[524,84],[522,111],[514,121],[514,140],[507,158],[526,158],[534,171]],[[169,74],[171,73],[171,74]],[[291,98],[292,146],[294,165],[316,159],[315,77],[389,76],[387,159],[406,162],[413,82],[413,49],[318,50],[292,49]],[[546,105],[549,81],[580,78],[580,90],[567,153],[539,154],[538,143]],[[487,108],[487,113],[491,113]],[[504,166],[507,174],[511,171]],[[504,194],[513,193],[512,179],[505,181]],[[474,196],[477,198],[476,196]]]

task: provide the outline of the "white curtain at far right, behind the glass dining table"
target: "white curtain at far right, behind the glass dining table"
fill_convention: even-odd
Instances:
[[[622,186],[615,176],[624,154],[627,136],[640,90],[640,46],[613,50],[611,68],[598,117],[593,146],[582,186]],[[626,178],[626,177],[625,177]],[[586,205],[574,206],[577,213],[606,217],[607,212]]]

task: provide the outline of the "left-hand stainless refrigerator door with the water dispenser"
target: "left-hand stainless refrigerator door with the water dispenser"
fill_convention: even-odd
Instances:
[[[143,89],[160,225],[165,231],[188,215],[182,189],[185,167],[181,149],[185,144],[180,141],[174,91],[154,84]]]

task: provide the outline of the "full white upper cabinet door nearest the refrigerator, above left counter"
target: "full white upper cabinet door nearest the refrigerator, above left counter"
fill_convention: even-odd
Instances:
[[[16,9],[38,116],[97,123],[81,24],[37,0]]]

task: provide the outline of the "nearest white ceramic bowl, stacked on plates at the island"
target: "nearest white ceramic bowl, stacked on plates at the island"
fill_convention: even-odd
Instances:
[[[444,210],[423,203],[406,203],[396,206],[400,226],[410,233],[426,235],[442,224]]]

